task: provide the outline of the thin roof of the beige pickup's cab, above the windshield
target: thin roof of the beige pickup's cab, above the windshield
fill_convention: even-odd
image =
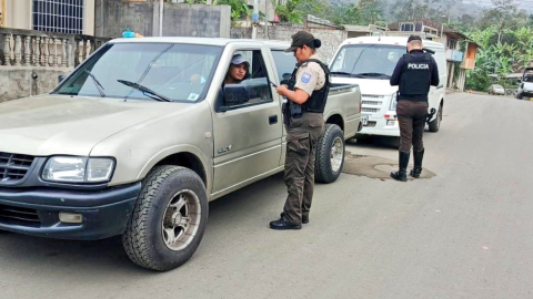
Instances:
[[[161,42],[161,43],[190,43],[190,44],[208,44],[224,47],[229,43],[260,43],[274,48],[289,48],[290,42],[286,41],[273,41],[273,40],[249,40],[249,39],[222,39],[222,38],[189,38],[189,37],[154,37],[154,38],[129,38],[129,39],[114,39],[111,43],[123,42]]]

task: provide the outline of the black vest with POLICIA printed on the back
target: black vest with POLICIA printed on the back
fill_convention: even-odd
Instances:
[[[399,99],[428,99],[431,83],[431,55],[409,53],[403,55],[403,62]]]

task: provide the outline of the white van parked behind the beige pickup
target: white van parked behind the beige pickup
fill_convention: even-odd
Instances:
[[[389,80],[399,59],[406,53],[408,37],[362,37],[346,39],[330,63],[332,83],[359,84],[361,89],[362,124],[359,134],[400,136],[396,117],[398,86]],[[433,50],[439,68],[439,86],[431,86],[429,109],[435,109],[430,131],[438,132],[444,106],[447,81],[445,50],[442,43],[423,40]]]

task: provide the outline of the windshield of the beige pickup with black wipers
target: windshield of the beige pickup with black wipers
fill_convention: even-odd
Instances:
[[[194,103],[205,96],[221,53],[199,44],[111,43],[53,93]]]

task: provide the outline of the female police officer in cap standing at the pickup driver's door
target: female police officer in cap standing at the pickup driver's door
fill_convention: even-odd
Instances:
[[[281,218],[270,223],[272,229],[300,229],[302,223],[309,223],[316,144],[324,130],[323,112],[330,90],[330,72],[315,51],[321,41],[305,31],[291,38],[291,48],[285,52],[294,52],[298,64],[289,85],[276,89],[278,94],[288,99],[283,123],[286,128],[284,181],[289,195]]]

